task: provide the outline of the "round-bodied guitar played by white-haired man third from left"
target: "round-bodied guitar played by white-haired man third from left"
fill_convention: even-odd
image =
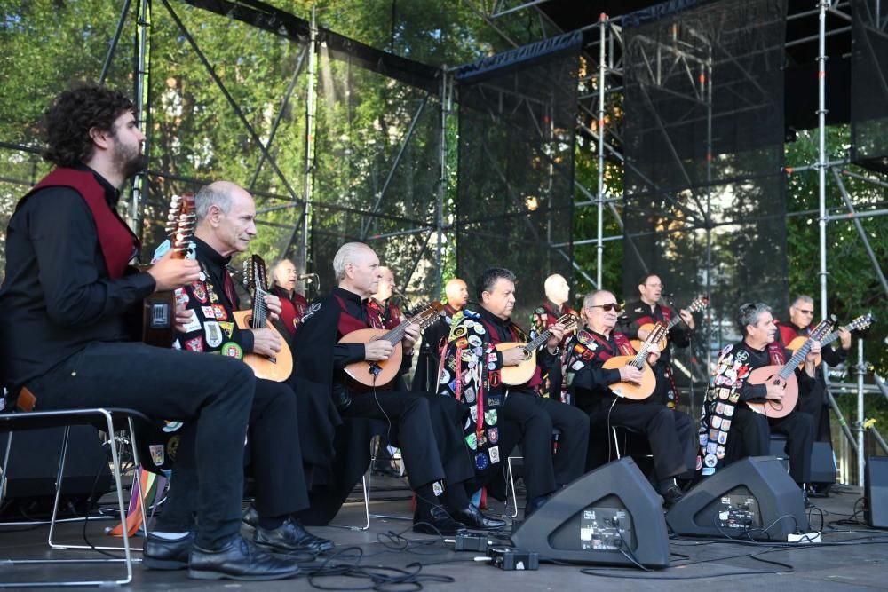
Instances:
[[[344,335],[339,343],[370,343],[377,339],[385,339],[388,343],[392,343],[394,350],[388,359],[381,359],[375,362],[362,359],[359,362],[353,362],[345,367],[345,374],[353,378],[357,383],[366,387],[381,388],[394,380],[400,371],[400,362],[403,359],[403,350],[401,340],[404,338],[404,331],[409,325],[418,325],[422,331],[427,328],[435,320],[440,317],[444,305],[437,300],[431,304],[426,304],[419,312],[407,320],[400,322],[398,327],[389,331],[385,329],[358,329],[352,331],[348,335]]]

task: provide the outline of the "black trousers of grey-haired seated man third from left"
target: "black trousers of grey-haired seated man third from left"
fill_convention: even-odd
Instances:
[[[339,413],[391,422],[394,430],[386,437],[400,446],[414,491],[441,479],[456,485],[472,478],[460,420],[464,408],[449,397],[409,391],[353,393],[352,404]]]

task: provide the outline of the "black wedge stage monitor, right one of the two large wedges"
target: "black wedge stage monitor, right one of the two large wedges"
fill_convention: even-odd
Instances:
[[[786,541],[810,530],[802,490],[773,456],[750,456],[704,478],[666,514],[678,534]]]

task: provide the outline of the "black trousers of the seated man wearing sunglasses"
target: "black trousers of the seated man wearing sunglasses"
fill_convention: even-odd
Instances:
[[[627,403],[600,398],[585,402],[591,432],[586,469],[597,469],[610,461],[611,428],[619,426],[646,438],[654,456],[658,480],[676,477],[695,466],[696,427],[680,411],[660,403]]]

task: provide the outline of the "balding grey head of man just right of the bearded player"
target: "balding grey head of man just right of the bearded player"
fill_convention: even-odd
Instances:
[[[219,255],[228,257],[250,247],[256,236],[256,204],[241,185],[216,181],[194,196],[197,228],[194,235]]]

